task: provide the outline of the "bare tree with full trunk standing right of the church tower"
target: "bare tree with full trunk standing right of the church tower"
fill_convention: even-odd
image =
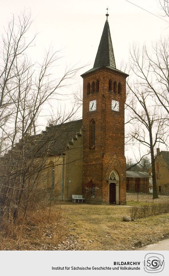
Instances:
[[[126,106],[130,111],[128,141],[131,144],[137,143],[147,147],[151,155],[153,198],[158,198],[154,149],[159,143],[167,146],[167,77],[166,88],[161,88],[162,91],[160,93],[160,87],[162,87],[160,81],[157,82],[158,90],[157,87],[156,89],[154,88],[154,83],[157,80],[156,76],[159,76],[159,74],[156,74],[155,70],[152,71],[151,60],[148,58],[145,47],[143,47],[142,51],[140,51],[139,47],[133,47],[130,66],[135,80],[127,81],[129,91]]]

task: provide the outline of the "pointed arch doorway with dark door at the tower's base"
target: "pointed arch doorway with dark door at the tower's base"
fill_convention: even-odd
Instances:
[[[115,170],[109,176],[109,203],[119,205],[119,176]]]

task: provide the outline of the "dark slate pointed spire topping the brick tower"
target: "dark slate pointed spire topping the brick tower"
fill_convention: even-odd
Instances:
[[[106,14],[106,16],[108,18],[109,14]],[[110,28],[107,19],[101,36],[93,68],[97,68],[100,66],[111,66],[112,68],[116,69]]]

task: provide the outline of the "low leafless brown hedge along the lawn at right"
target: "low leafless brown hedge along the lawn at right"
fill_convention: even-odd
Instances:
[[[146,218],[149,216],[161,215],[164,213],[169,213],[168,202],[145,204],[140,207],[130,207],[130,216],[134,219]]]

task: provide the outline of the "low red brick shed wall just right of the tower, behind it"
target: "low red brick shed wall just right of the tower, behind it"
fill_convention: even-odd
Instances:
[[[139,180],[139,181],[138,181]],[[149,178],[135,178],[126,177],[126,191],[135,193],[137,192],[137,184],[139,183],[140,192],[149,193]]]

